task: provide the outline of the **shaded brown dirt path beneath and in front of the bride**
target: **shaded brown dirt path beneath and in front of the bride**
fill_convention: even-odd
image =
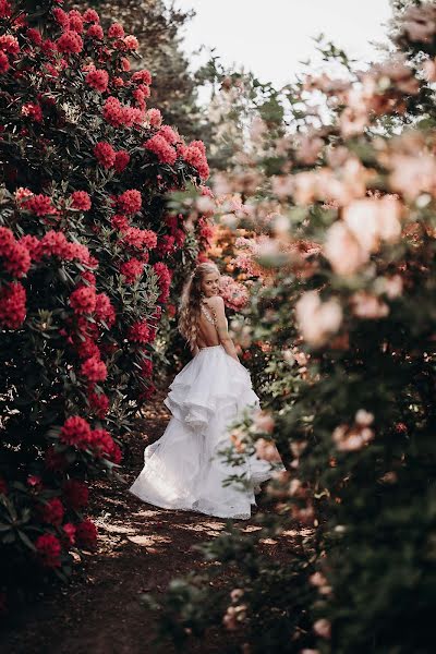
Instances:
[[[126,487],[143,464],[144,446],[164,432],[168,414],[159,398],[132,437],[125,482],[98,483],[93,492],[93,519],[99,547],[85,554],[84,567],[66,588],[60,588],[11,618],[1,637],[3,654],[171,654],[153,645],[154,616],[140,603],[145,592],[159,595],[174,577],[207,565],[193,546],[216,537],[226,522],[197,513],[167,511],[141,502]],[[241,531],[259,529],[238,521]],[[290,535],[288,536],[288,538]],[[280,543],[265,541],[271,555],[283,554]],[[218,653],[228,644],[226,631],[210,633],[191,652]]]

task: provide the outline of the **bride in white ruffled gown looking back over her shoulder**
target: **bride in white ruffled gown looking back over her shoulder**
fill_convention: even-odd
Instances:
[[[179,322],[194,358],[170,386],[165,404],[171,421],[146,447],[144,468],[130,492],[166,509],[247,519],[254,493],[271,476],[271,467],[255,455],[233,467],[219,455],[230,446],[228,425],[259,403],[229,336],[218,289],[218,268],[199,264],[184,290]],[[235,473],[249,482],[243,489],[223,485]]]

